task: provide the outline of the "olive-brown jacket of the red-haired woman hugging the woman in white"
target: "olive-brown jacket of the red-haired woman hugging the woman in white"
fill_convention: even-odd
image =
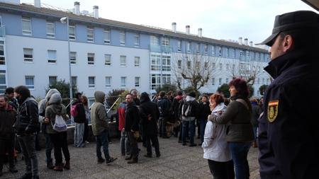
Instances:
[[[250,103],[247,103],[247,106],[250,106]],[[254,133],[250,123],[251,113],[244,104],[232,100],[222,115],[210,115],[208,120],[226,125],[227,142],[252,142]]]

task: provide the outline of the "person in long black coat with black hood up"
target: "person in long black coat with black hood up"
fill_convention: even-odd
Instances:
[[[145,132],[146,142],[146,157],[152,157],[152,144],[155,147],[156,156],[159,157],[159,142],[157,138],[157,121],[159,119],[159,109],[156,103],[150,100],[146,92],[140,96],[140,123],[142,124],[142,131]]]

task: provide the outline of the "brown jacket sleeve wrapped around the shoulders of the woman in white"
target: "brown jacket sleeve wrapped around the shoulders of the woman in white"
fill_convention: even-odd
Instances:
[[[233,118],[238,112],[238,108],[237,105],[235,105],[235,103],[237,102],[230,102],[227,109],[225,110],[225,112],[223,112],[222,115],[210,115],[208,117],[208,120],[210,120],[211,122],[215,122],[218,125],[227,124],[230,120],[233,120]]]

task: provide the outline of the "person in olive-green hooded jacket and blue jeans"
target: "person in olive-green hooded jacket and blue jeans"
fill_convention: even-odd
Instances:
[[[108,119],[106,109],[104,108],[105,93],[103,91],[95,91],[95,103],[91,106],[91,124],[92,132],[96,139],[96,157],[98,163],[111,163],[117,158],[110,156],[108,152]],[[104,159],[101,153],[103,147]]]

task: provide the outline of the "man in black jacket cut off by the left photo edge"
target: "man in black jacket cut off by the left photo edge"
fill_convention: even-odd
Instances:
[[[14,131],[13,123],[16,122],[16,110],[9,105],[7,96],[0,96],[0,176],[4,165],[4,154],[8,152],[9,171],[17,173],[14,166]]]

